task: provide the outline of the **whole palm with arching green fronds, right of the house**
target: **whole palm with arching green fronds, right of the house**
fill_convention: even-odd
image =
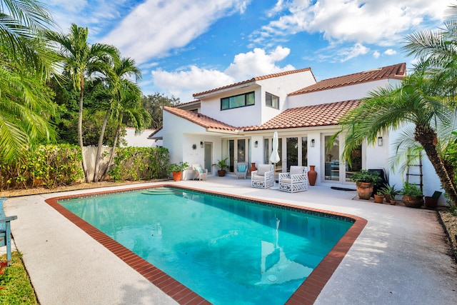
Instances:
[[[457,188],[453,181],[454,169],[436,149],[438,137],[435,130],[438,124],[451,124],[454,111],[443,103],[442,98],[430,94],[434,91],[436,87],[433,81],[423,74],[406,77],[401,86],[396,88],[372,91],[358,108],[339,121],[341,131],[347,132],[343,156],[348,159],[351,151],[363,141],[374,144],[381,132],[413,124],[414,141],[426,152],[443,189],[455,205]]]

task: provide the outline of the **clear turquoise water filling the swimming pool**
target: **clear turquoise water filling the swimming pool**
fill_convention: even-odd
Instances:
[[[174,188],[59,204],[213,304],[284,304],[352,225]]]

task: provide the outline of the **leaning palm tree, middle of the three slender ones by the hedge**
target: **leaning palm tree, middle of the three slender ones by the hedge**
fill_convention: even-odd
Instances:
[[[97,80],[104,83],[104,96],[106,96],[106,101],[108,102],[104,103],[106,108],[106,115],[101,126],[99,143],[97,145],[98,147],[93,179],[94,182],[99,181],[101,149],[103,145],[106,124],[111,116],[111,111],[116,110],[119,107],[122,108],[121,101],[123,99],[122,95],[124,94],[124,91],[129,91],[129,89],[134,88],[134,90],[131,89],[130,91],[136,92],[139,98],[141,98],[141,91],[139,91],[138,86],[135,86],[131,81],[132,76],[134,76],[136,80],[141,79],[140,69],[135,66],[134,59],[119,59],[119,57],[119,54],[117,54],[113,61],[104,61],[98,66],[98,68],[96,68],[96,71],[101,74],[101,76],[97,77]]]

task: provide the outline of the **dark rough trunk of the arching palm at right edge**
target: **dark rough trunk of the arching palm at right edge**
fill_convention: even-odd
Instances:
[[[414,133],[414,139],[418,141],[430,160],[433,168],[441,181],[444,191],[448,194],[451,204],[456,206],[457,204],[457,189],[453,182],[453,173],[448,171],[445,162],[438,155],[436,151],[436,134],[433,129],[424,128],[423,126],[416,125],[416,131]]]

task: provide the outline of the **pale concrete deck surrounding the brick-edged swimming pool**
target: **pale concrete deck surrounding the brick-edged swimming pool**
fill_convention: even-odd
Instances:
[[[6,215],[41,304],[176,304],[124,261],[59,214],[56,196],[161,183],[9,198]],[[453,304],[457,264],[435,211],[352,200],[355,191],[310,186],[288,194],[253,189],[249,179],[169,181],[176,186],[352,214],[368,220],[315,304]],[[454,300],[454,301],[452,301]]]

